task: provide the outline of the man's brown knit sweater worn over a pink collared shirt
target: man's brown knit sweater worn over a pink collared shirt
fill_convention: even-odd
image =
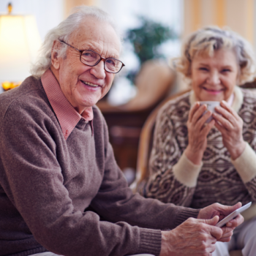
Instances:
[[[0,255],[159,255],[198,210],[133,195],[97,107],[64,140],[41,80],[0,95]]]

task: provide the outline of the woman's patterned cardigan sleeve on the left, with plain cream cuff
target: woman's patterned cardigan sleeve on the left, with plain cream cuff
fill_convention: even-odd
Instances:
[[[146,197],[189,207],[202,164],[190,162],[184,154],[187,143],[184,142],[184,147],[178,143],[178,137],[187,140],[187,114],[184,116],[182,123],[178,123],[172,116],[171,105],[159,112],[145,193]]]

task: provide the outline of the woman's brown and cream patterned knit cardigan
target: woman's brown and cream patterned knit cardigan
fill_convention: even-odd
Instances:
[[[244,120],[243,136],[247,142],[241,156],[235,161],[230,159],[222,135],[214,127],[207,136],[201,165],[187,159],[184,154],[188,145],[187,119],[195,102],[194,92],[189,92],[167,102],[158,113],[150,177],[140,189],[141,194],[192,208],[216,202],[256,203],[256,94],[238,86],[234,94],[232,108]]]

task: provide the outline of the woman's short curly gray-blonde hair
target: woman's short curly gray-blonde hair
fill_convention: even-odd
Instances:
[[[256,63],[252,45],[234,31],[219,29],[217,26],[207,26],[190,34],[182,46],[181,57],[173,59],[173,64],[185,78],[190,78],[195,56],[213,56],[214,51],[220,49],[234,50],[240,68],[238,85],[255,78]]]

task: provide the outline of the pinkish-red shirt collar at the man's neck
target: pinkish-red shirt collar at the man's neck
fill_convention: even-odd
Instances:
[[[50,69],[45,71],[41,77],[41,80],[50,105],[52,106],[53,111],[56,113],[59,120],[65,140],[67,140],[81,118],[85,119],[86,121],[90,121],[91,132],[93,134],[92,119],[94,118],[94,113],[92,108],[86,108],[86,110],[84,110],[80,115],[64,96],[58,80],[55,78]]]

